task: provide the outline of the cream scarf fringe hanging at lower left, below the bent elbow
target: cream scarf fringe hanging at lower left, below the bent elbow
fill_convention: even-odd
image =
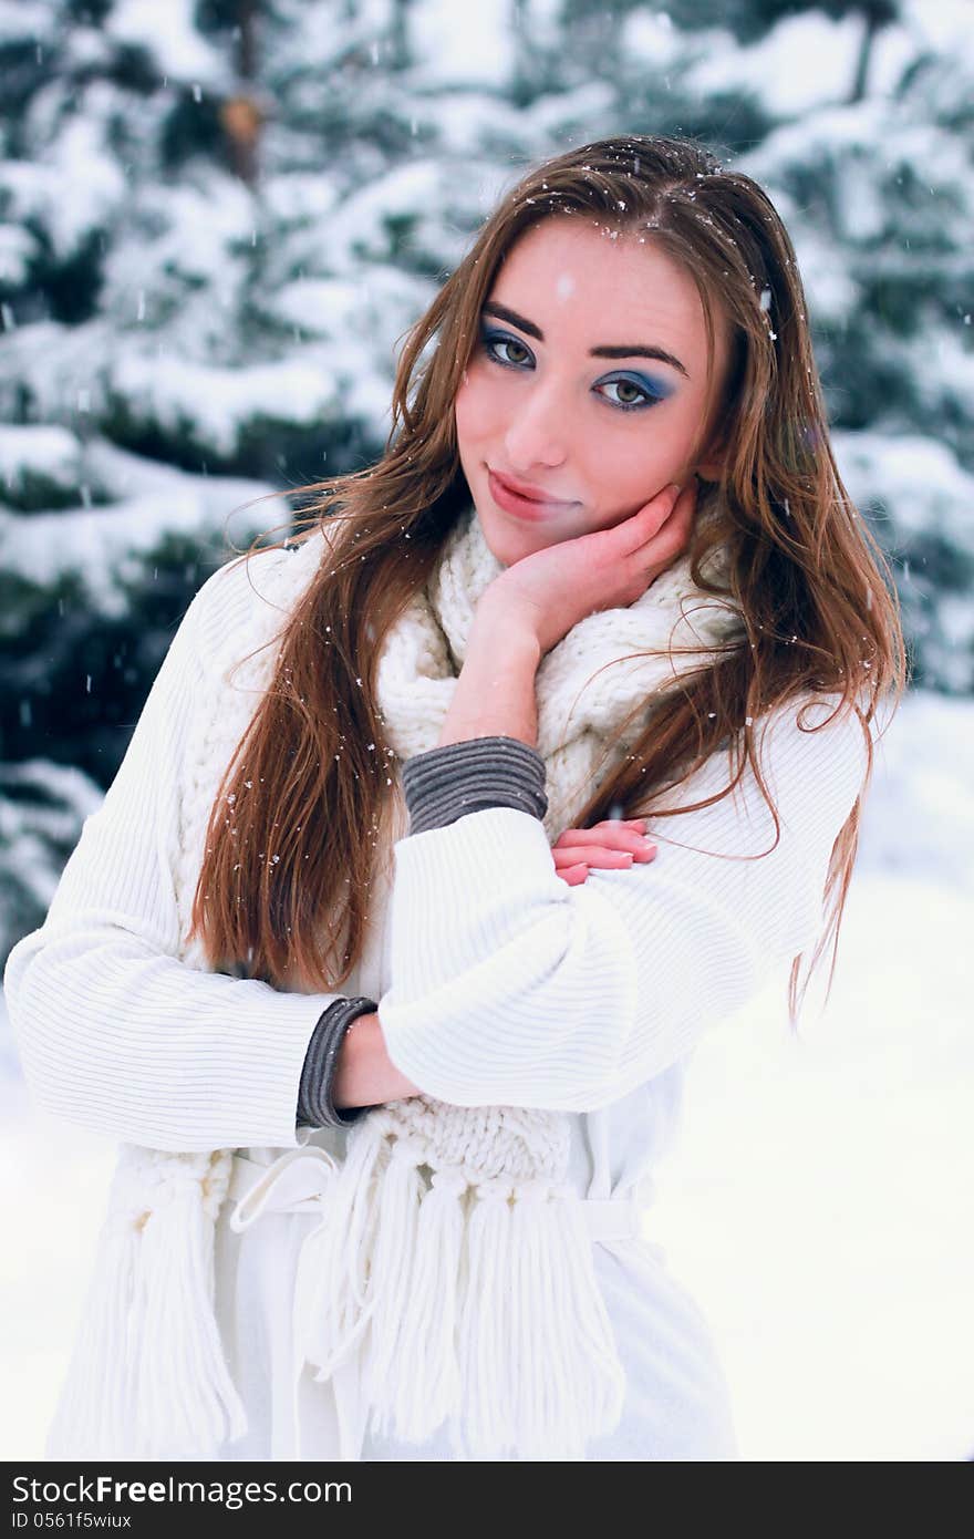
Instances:
[[[115,1179],[128,1183],[125,1160]],[[157,1191],[155,1208],[123,1203],[102,1228],[45,1459],[209,1459],[246,1431],[214,1313],[203,1188],[180,1173]]]

